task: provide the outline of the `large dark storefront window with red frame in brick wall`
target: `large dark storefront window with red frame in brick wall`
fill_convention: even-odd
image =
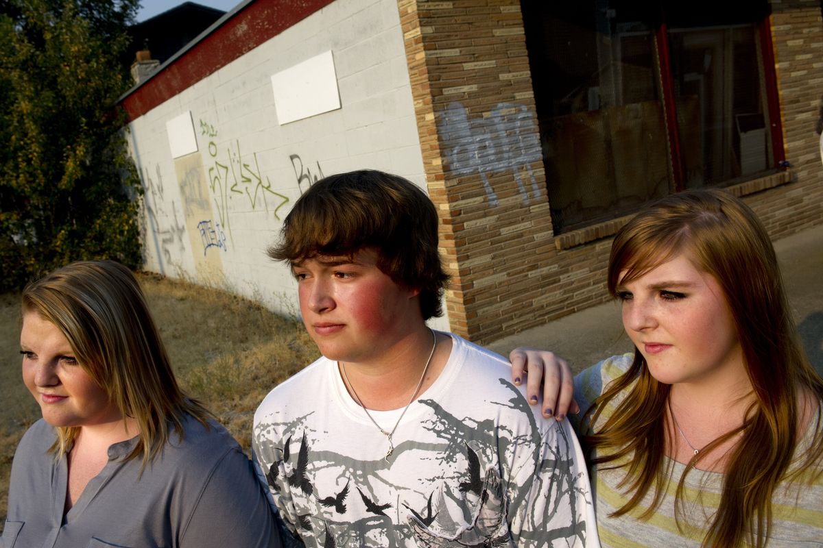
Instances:
[[[522,1],[556,233],[775,167],[767,8]]]

